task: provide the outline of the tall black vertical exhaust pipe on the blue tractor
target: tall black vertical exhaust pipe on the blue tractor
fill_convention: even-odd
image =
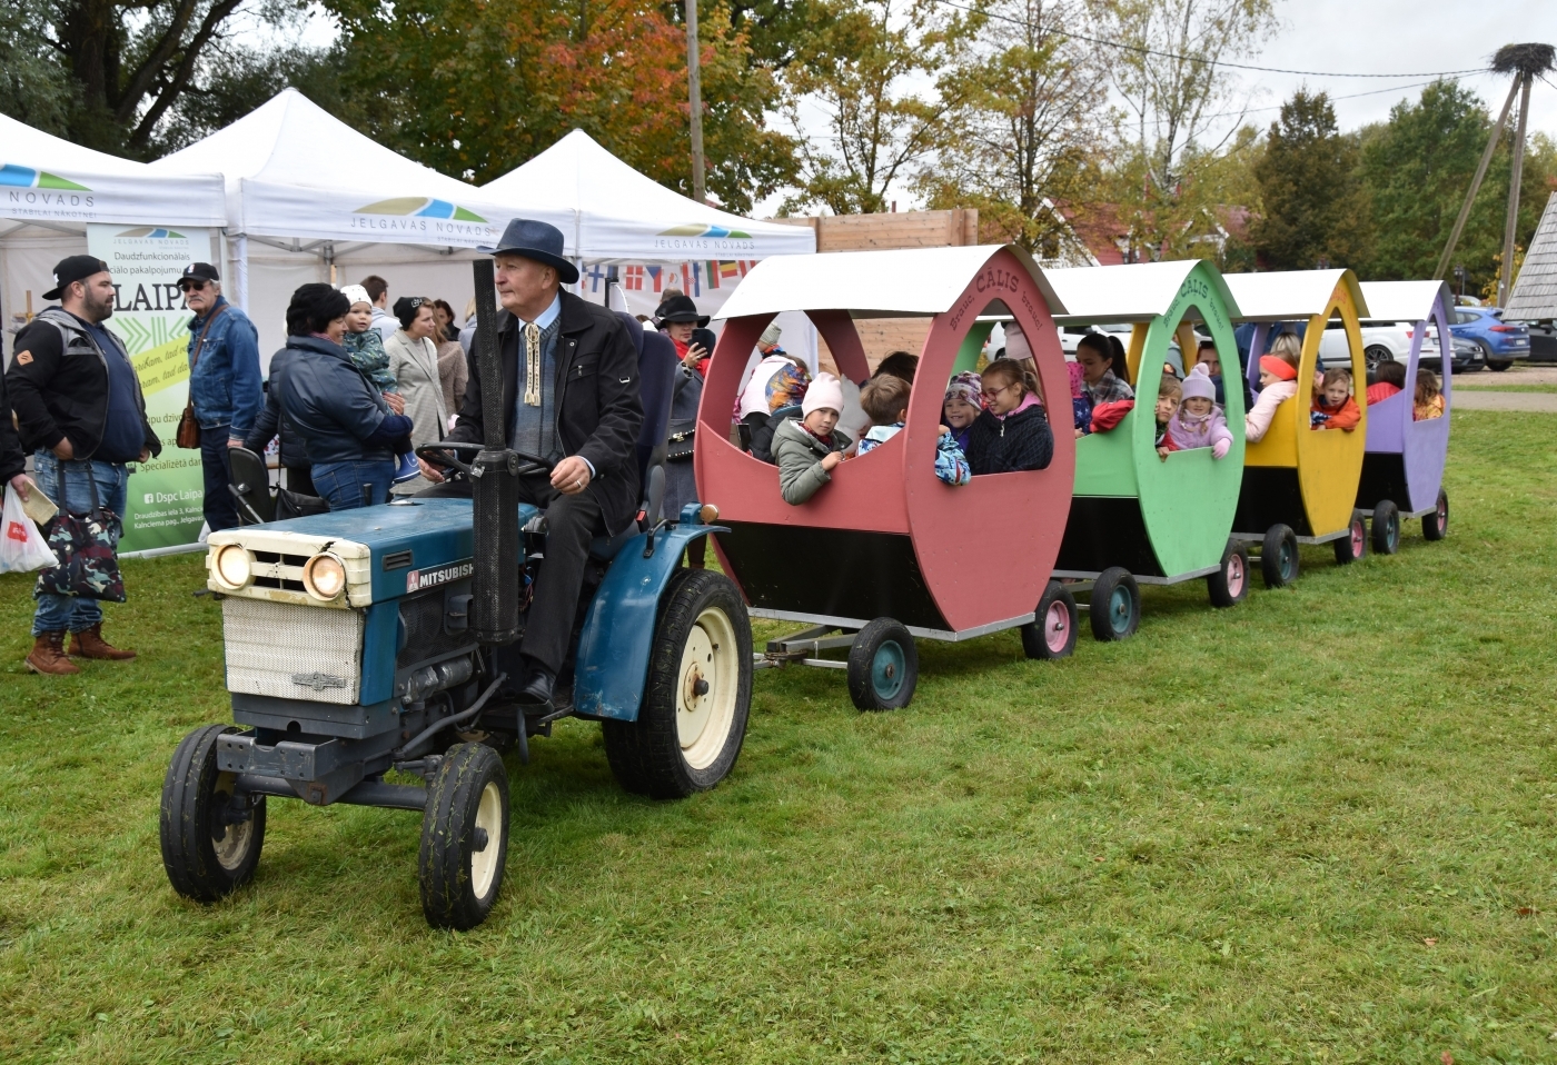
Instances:
[[[470,627],[478,641],[518,638],[518,456],[503,439],[503,366],[497,350],[497,279],[490,258],[472,263],[476,286],[476,374],[486,447],[470,470],[475,503],[475,573]]]

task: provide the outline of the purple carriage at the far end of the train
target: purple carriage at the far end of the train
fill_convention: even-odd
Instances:
[[[1369,408],[1367,452],[1356,508],[1372,528],[1373,550],[1394,554],[1400,547],[1401,518],[1422,518],[1422,536],[1442,540],[1448,534],[1450,497],[1443,490],[1443,464],[1450,452],[1450,389],[1453,374],[1454,297],[1443,282],[1362,282],[1369,318],[1381,322],[1412,322],[1406,355],[1404,388]],[[1434,335],[1429,338],[1429,330]],[[1443,416],[1415,420],[1417,374],[1422,350],[1437,346],[1443,366]]]

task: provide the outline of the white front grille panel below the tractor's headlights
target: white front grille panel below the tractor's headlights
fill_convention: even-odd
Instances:
[[[363,676],[360,610],[227,596],[221,601],[227,690],[357,702]]]

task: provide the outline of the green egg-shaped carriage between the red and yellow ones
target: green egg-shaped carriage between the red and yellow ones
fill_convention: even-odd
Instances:
[[[1238,366],[1232,318],[1238,307],[1221,272],[1204,260],[1095,266],[1045,272],[1065,305],[1060,325],[1132,325],[1129,346],[1135,409],[1112,430],[1076,441],[1076,489],[1056,576],[1088,595],[1099,640],[1123,640],[1141,615],[1140,584],[1204,578],[1211,603],[1239,603],[1247,593],[1249,551],[1228,539],[1244,469],[1244,397],[1227,392],[1233,445],[1225,458],[1194,448],[1155,448],[1152,414],[1168,347],[1177,339],[1185,364],[1204,324],[1221,363]]]

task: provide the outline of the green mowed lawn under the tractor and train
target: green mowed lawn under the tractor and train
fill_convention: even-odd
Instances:
[[[760,673],[688,802],[565,722],[467,934],[397,811],[272,799],[255,883],[176,897],[162,775],[227,719],[199,556],[128,564],[142,657],[67,680],[0,578],[0,1060],[1554,1060],[1557,416],[1456,414],[1448,489],[1442,543],[1149,590],[1060,663],[923,643],[905,712]]]

